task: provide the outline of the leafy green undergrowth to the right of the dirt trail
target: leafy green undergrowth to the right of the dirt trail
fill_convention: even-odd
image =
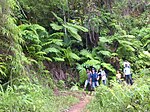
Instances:
[[[138,78],[132,86],[111,82],[112,87],[97,88],[95,99],[88,105],[91,112],[148,112],[150,110],[149,77]]]

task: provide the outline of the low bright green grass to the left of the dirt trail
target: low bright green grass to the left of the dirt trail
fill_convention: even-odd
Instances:
[[[0,85],[1,86],[1,85]],[[73,96],[55,95],[49,87],[21,83],[0,89],[0,112],[60,112],[78,102]]]

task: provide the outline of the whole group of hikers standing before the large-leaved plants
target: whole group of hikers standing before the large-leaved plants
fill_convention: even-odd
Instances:
[[[132,76],[131,76],[131,67],[130,67],[130,63],[128,61],[125,61],[123,63],[124,69],[123,69],[123,75],[121,74],[121,72],[119,70],[117,70],[116,72],[116,81],[118,83],[122,82],[122,78],[125,79],[126,83],[128,85],[132,85]],[[88,86],[89,89],[88,90],[94,90],[95,87],[98,87],[100,84],[100,81],[102,82],[103,85],[106,85],[106,81],[107,81],[107,74],[104,70],[104,68],[100,68],[98,71],[92,67],[92,68],[87,68],[86,69],[87,72],[87,80],[85,81],[84,84],[84,90],[86,90],[86,87]]]

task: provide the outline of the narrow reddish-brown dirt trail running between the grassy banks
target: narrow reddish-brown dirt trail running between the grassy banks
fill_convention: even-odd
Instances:
[[[84,99],[80,100],[79,103],[73,105],[66,112],[82,112],[82,110],[86,107],[86,105],[90,102],[92,96],[86,95]]]

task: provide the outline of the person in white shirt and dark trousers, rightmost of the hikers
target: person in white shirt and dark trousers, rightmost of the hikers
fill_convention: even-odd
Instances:
[[[131,71],[130,71],[130,67],[128,66],[128,64],[125,64],[125,68],[123,70],[124,75],[125,75],[125,80],[127,84],[133,84],[132,82],[132,77],[131,77]]]

